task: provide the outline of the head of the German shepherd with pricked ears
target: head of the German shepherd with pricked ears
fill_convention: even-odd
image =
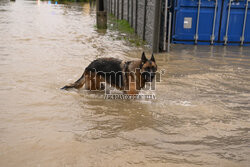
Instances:
[[[141,75],[145,82],[152,82],[157,71],[157,65],[155,62],[154,55],[152,54],[150,60],[147,59],[145,53],[141,56]]]

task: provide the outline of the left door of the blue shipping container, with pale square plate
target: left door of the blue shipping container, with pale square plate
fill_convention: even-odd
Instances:
[[[218,41],[221,6],[221,0],[175,1],[173,42],[210,44]]]

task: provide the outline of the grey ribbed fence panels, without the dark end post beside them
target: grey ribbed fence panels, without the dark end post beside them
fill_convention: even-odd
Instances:
[[[129,22],[135,32],[152,48],[155,0],[107,0],[110,13]]]

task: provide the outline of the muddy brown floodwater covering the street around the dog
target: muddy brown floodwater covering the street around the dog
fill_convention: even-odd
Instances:
[[[89,3],[0,0],[1,167],[249,166],[249,47],[173,45],[155,100],[60,90],[96,58],[140,57],[95,24]]]

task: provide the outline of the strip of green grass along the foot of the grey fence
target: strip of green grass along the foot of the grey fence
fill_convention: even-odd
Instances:
[[[135,34],[134,29],[130,26],[127,20],[118,20],[112,14],[109,14],[108,29],[119,31],[119,36],[115,38],[117,40],[125,40],[135,46],[142,46],[146,44],[145,41]]]

